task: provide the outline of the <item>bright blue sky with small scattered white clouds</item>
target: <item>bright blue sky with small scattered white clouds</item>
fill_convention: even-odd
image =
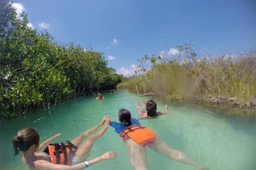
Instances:
[[[104,52],[125,75],[145,54],[176,55],[191,42],[199,55],[256,46],[256,0],[15,0],[38,31],[60,44]]]

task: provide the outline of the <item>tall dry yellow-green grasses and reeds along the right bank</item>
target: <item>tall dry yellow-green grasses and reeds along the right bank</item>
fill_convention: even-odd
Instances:
[[[255,49],[236,56],[200,59],[196,59],[191,44],[177,49],[176,58],[145,55],[138,59],[137,70],[144,73],[124,78],[117,87],[132,93],[152,93],[163,101],[200,102],[218,112],[256,119]],[[143,65],[146,61],[152,63],[147,70]]]

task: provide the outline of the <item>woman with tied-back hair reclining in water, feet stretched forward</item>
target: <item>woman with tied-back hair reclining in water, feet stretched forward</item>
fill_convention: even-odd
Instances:
[[[90,136],[81,144],[86,136],[94,132],[104,123],[105,126],[101,128],[100,131]],[[82,170],[94,163],[113,158],[117,155],[116,152],[107,152],[90,161],[86,161],[91,152],[93,143],[106,132],[109,125],[110,117],[105,116],[99,125],[83,132],[73,140],[67,141],[67,144],[48,144],[50,140],[61,134],[57,134],[42,144],[39,144],[39,134],[37,130],[33,128],[24,128],[19,130],[17,136],[14,136],[13,138],[14,156],[17,155],[19,151],[23,151],[23,162],[33,170]],[[43,151],[37,152],[46,144],[47,146]]]

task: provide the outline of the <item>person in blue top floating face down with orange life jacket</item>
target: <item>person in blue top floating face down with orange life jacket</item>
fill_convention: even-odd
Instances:
[[[119,121],[111,121],[110,126],[125,141],[130,162],[135,170],[148,170],[146,159],[146,146],[157,153],[161,153],[169,159],[196,166],[198,170],[206,170],[201,164],[190,159],[185,153],[168,146],[163,140],[155,135],[155,132],[141,126],[137,119],[131,118],[129,110],[119,110]]]

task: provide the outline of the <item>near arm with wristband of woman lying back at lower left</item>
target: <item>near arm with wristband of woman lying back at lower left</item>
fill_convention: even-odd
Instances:
[[[116,157],[116,155],[117,155],[116,152],[107,152],[99,157],[96,157],[90,161],[87,161],[86,163],[89,166],[91,166],[94,163],[97,163],[99,161],[114,158],[114,157]],[[50,163],[50,162],[44,161],[44,160],[38,160],[38,161],[34,162],[34,165],[35,165],[36,169],[45,169],[45,170],[82,170],[82,169],[86,168],[85,162],[78,163],[73,166],[68,166],[68,165],[54,164],[54,163]]]

